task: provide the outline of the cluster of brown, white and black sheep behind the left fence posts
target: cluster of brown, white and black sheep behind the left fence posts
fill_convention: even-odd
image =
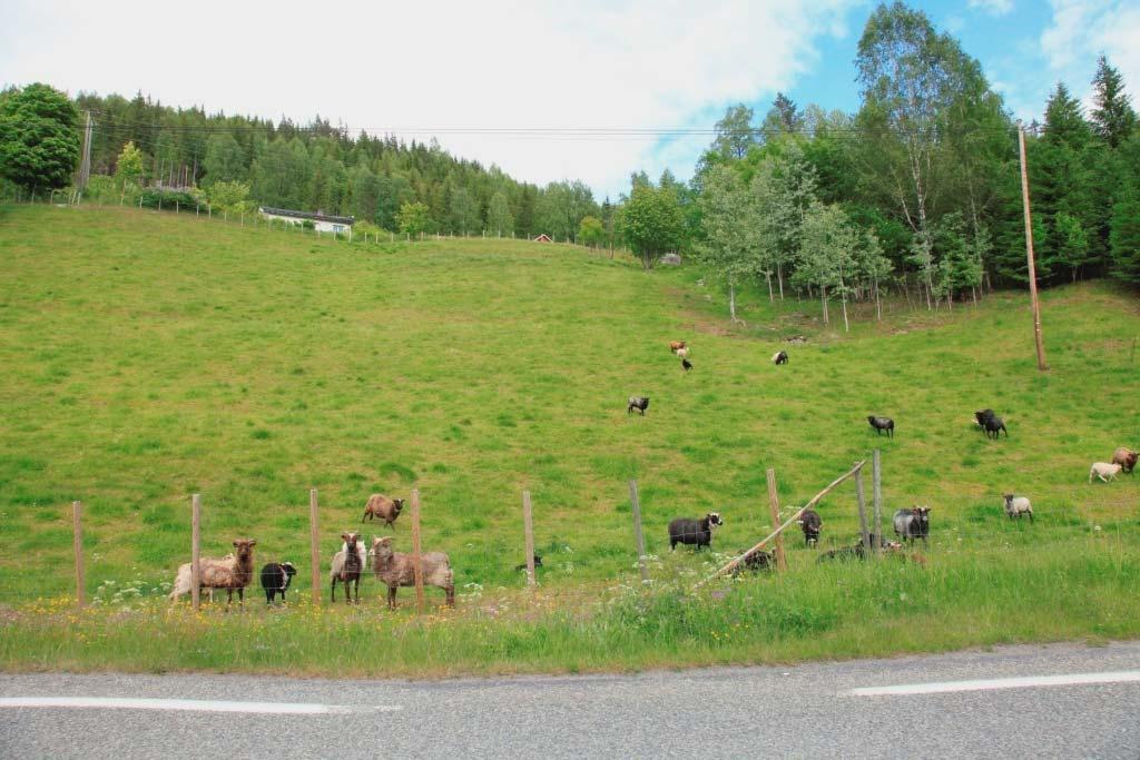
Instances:
[[[404,499],[391,499],[382,493],[374,493],[368,498],[364,517],[366,520],[382,520],[385,525],[394,530],[396,518],[400,516],[404,508]],[[332,567],[329,570],[329,581],[332,583],[332,600],[336,600],[336,585],[344,587],[344,600],[353,602],[353,589],[356,590],[357,604],[360,603],[360,580],[370,567],[376,580],[388,587],[388,606],[396,607],[396,593],[401,586],[415,586],[415,563],[414,556],[392,548],[392,537],[374,536],[372,548],[365,548],[364,539],[355,532],[341,533],[341,548],[333,555]],[[234,541],[234,553],[221,558],[202,558],[198,561],[198,586],[213,595],[213,591],[225,590],[227,604],[233,602],[234,591],[237,591],[239,603],[245,600],[245,589],[253,582],[253,547],[256,541],[250,539],[237,539]],[[424,551],[420,555],[420,569],[424,586],[435,586],[447,594],[447,605],[455,606],[455,575],[451,571],[451,561],[442,551]],[[282,600],[288,590],[293,577],[296,575],[296,567],[292,562],[271,562],[261,569],[261,588],[266,593],[266,604],[272,604],[279,594]],[[171,599],[189,594],[194,582],[190,563],[186,563],[178,569],[174,575],[174,588],[170,593]]]

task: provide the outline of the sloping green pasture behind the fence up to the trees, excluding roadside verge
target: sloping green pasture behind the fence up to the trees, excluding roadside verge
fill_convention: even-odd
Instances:
[[[952,313],[896,304],[850,336],[822,328],[816,304],[754,297],[748,326],[730,329],[694,271],[513,240],[349,245],[5,207],[0,272],[0,603],[68,593],[72,499],[92,593],[172,577],[192,492],[204,553],[253,537],[259,563],[291,558],[307,578],[312,487],[326,557],[370,492],[414,487],[425,547],[484,589],[522,585],[530,489],[540,580],[571,594],[634,572],[630,477],[651,553],[667,553],[671,517],[708,509],[727,551],[765,532],[765,467],[791,506],[876,446],[888,514],[933,507],[931,564],[968,549],[1048,565],[1110,545],[1113,582],[1140,575],[1140,476],[1086,483],[1091,461],[1140,444],[1140,309],[1108,286],[1044,295],[1041,375],[1019,294]],[[811,341],[774,367],[788,333]],[[691,342],[691,374],[671,338]],[[630,394],[652,399],[644,418],[626,414]],[[972,425],[983,407],[1005,416],[1008,440]],[[874,435],[872,412],[896,419],[896,439]],[[1004,491],[1033,499],[1034,525],[1002,520]],[[852,489],[820,512],[824,537],[847,542]],[[396,534],[407,548],[407,524]],[[797,546],[790,562],[808,572],[814,558]]]

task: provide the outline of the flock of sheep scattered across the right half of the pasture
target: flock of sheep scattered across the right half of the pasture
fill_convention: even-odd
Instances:
[[[670,341],[669,351],[682,358],[683,369],[687,371],[692,368],[692,365],[689,362],[690,348],[685,341]],[[776,366],[787,365],[788,352],[777,351],[772,357],[772,363]],[[626,414],[628,415],[634,409],[637,409],[644,416],[648,408],[648,398],[633,395],[629,397]],[[1005,433],[1005,438],[1009,438],[1009,430],[1005,427],[1005,422],[999,417],[993,409],[982,409],[979,411],[975,411],[974,419],[985,432],[986,438],[993,438],[996,440],[1003,432]],[[895,420],[890,417],[869,415],[866,420],[877,434],[881,435],[882,433],[887,433],[888,438],[894,438]],[[1137,465],[1138,458],[1140,458],[1140,453],[1137,451],[1126,447],[1119,447],[1113,452],[1113,460],[1110,463],[1093,463],[1092,467],[1089,469],[1089,482],[1091,483],[1093,476],[1096,476],[1107,483],[1115,480],[1116,475],[1121,472],[1131,473]],[[1029,522],[1033,522],[1033,505],[1029,502],[1027,497],[1005,493],[1002,496],[1002,499],[1005,516],[1010,520],[1016,520],[1023,515],[1027,515],[1029,517]],[[820,514],[814,509],[806,509],[797,522],[804,531],[804,540],[807,546],[816,546],[820,532],[823,529],[823,520],[820,517]],[[671,551],[676,549],[678,544],[695,546],[698,550],[700,550],[702,546],[711,547],[712,531],[715,528],[723,524],[724,518],[716,512],[710,512],[700,520],[677,517],[669,523],[669,550]],[[895,534],[901,539],[899,541],[887,541],[882,537],[871,534],[871,545],[878,545],[889,551],[898,551],[903,547],[903,541],[910,541],[913,544],[914,539],[921,538],[922,542],[926,544],[927,537],[930,533],[930,507],[914,506],[910,509],[899,509],[895,513],[893,524]],[[820,556],[820,562],[838,558],[864,558],[864,545],[862,540],[860,540],[860,542],[854,546],[846,546],[824,553]],[[921,564],[925,564],[926,562],[925,558],[918,554],[910,555],[910,558]],[[746,567],[751,570],[769,569],[773,564],[773,555],[763,550],[750,554],[743,563]]]

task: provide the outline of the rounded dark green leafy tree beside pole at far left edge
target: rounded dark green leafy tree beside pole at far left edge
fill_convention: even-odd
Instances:
[[[0,104],[0,175],[31,190],[71,181],[79,161],[79,113],[63,92],[28,84]]]

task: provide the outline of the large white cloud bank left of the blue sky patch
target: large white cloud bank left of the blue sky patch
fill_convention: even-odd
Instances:
[[[790,89],[854,0],[578,3],[16,0],[0,28],[9,83],[141,90],[165,104],[356,128],[673,128]],[[454,154],[598,194],[630,171],[691,162],[710,140],[451,131]],[[689,145],[692,142],[692,145]],[[674,165],[684,174],[689,166]]]

